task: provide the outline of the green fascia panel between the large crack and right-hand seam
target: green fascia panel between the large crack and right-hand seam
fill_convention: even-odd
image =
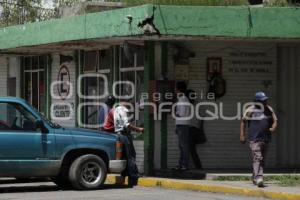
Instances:
[[[232,37],[247,33],[246,7],[158,6],[156,11],[155,23],[165,35]]]

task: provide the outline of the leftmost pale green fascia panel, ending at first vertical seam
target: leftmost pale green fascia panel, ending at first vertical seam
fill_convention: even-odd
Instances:
[[[29,23],[0,30],[0,48],[32,46],[85,38],[84,17]]]

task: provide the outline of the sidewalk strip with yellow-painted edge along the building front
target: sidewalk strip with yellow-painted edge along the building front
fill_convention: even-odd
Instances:
[[[107,183],[125,184],[120,176],[109,175]],[[171,178],[140,178],[138,186],[163,187],[178,190],[194,190],[201,192],[228,193],[271,199],[299,200],[300,187],[281,187],[266,182],[265,188],[258,188],[251,182],[245,181],[212,181],[212,180],[182,180]]]

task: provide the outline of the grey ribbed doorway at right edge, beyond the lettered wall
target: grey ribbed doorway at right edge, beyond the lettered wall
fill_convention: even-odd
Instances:
[[[278,48],[278,165],[300,167],[300,45]]]

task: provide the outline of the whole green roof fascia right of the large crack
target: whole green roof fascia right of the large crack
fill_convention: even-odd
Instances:
[[[163,35],[300,38],[300,9],[157,6],[155,24]]]

